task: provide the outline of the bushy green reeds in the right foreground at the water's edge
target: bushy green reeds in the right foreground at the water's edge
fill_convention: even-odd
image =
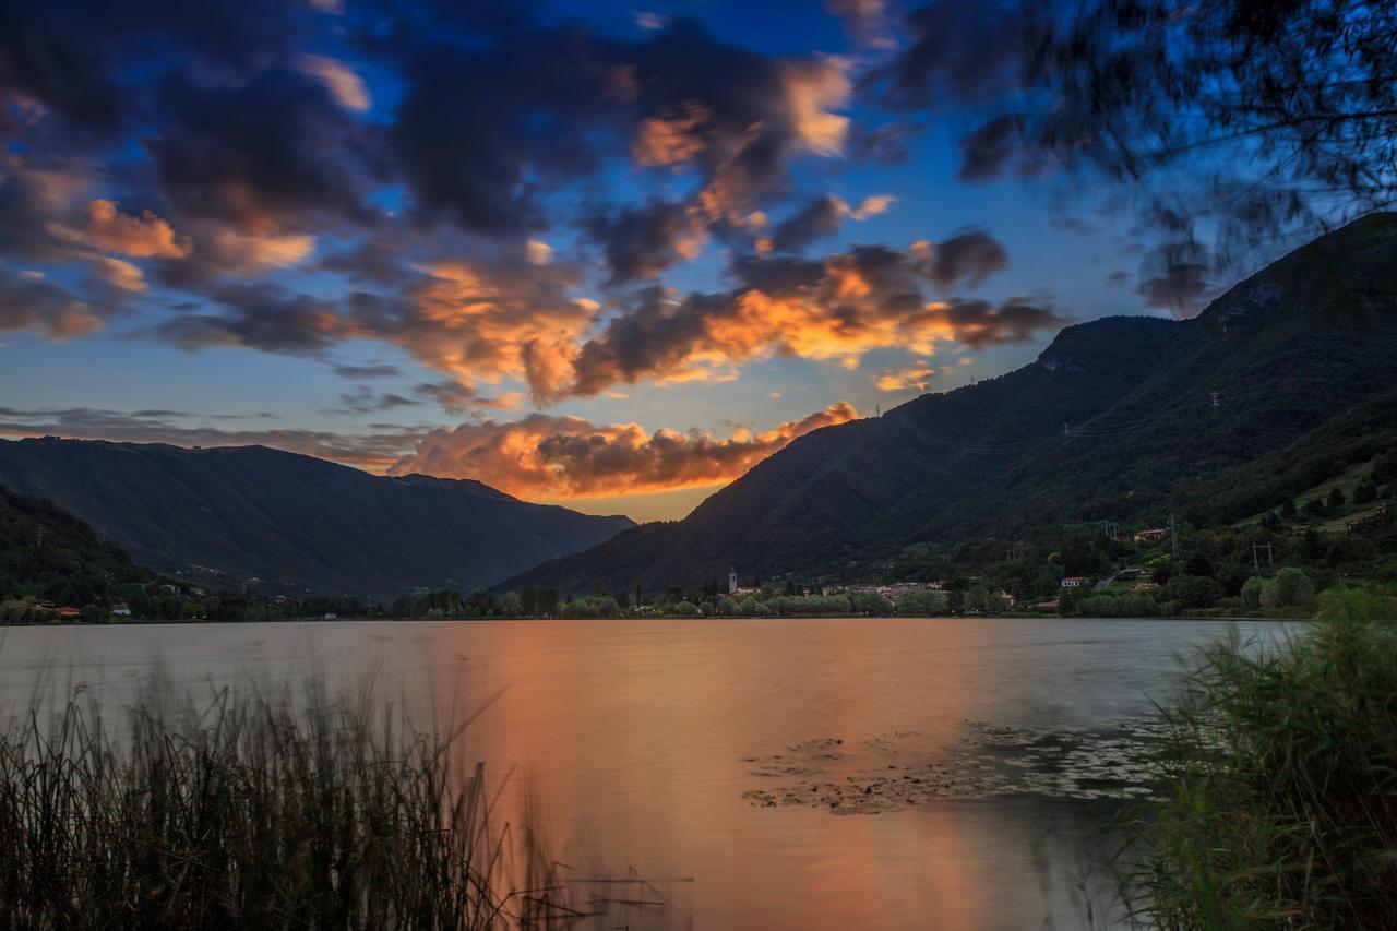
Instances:
[[[1303,636],[1207,649],[1166,712],[1166,798],[1126,885],[1164,928],[1397,928],[1397,623],[1327,598]]]

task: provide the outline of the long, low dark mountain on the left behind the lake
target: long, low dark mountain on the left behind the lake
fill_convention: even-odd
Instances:
[[[54,502],[161,572],[372,600],[486,586],[633,526],[264,446],[0,440],[0,484]]]

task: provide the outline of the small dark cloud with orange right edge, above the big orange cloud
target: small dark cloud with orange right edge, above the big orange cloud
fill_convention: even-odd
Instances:
[[[597,211],[585,229],[606,257],[612,284],[655,278],[693,259],[707,239],[707,224],[693,207],[664,201]]]

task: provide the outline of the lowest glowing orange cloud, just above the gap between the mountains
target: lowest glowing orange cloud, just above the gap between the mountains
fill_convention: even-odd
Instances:
[[[671,491],[732,481],[795,438],[856,417],[840,401],[763,433],[739,429],[717,439],[700,431],[651,433],[638,424],[531,414],[432,431],[390,472],[474,478],[525,498]]]

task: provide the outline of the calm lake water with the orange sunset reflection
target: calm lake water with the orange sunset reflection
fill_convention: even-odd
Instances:
[[[0,633],[0,712],[98,689],[122,702],[156,661],[205,689],[249,675],[377,670],[408,703],[507,686],[471,751],[543,800],[562,858],[634,867],[696,928],[1076,928],[1066,800],[937,801],[882,815],[754,808],[752,758],[806,741],[912,734],[954,746],[967,719],[1092,728],[1166,698],[1175,657],[1224,625],[1187,621],[338,622],[28,628]],[[1275,636],[1284,625],[1242,625]],[[746,759],[745,759],[746,758]],[[876,763],[876,760],[873,760]],[[1042,850],[1055,864],[1039,865]],[[1038,851],[1035,858],[1035,851]],[[692,878],[693,882],[679,882]],[[637,921],[633,927],[641,927]]]

